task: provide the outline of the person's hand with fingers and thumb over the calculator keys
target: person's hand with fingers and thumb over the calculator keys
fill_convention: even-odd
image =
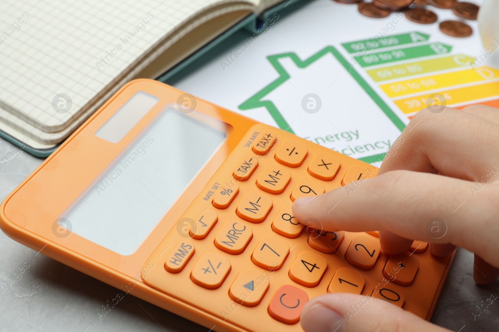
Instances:
[[[388,151],[378,175],[357,182],[353,191],[341,187],[297,199],[294,216],[326,231],[378,230],[388,254],[405,252],[415,239],[430,242],[436,256],[461,246],[475,253],[477,283],[497,279],[498,109],[477,105],[463,111],[419,111]],[[348,319],[350,306],[362,298],[338,293],[312,299],[301,324],[306,332],[448,331],[378,299]]]

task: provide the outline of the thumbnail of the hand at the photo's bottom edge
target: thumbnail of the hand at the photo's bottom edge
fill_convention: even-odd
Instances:
[[[344,323],[342,315],[319,303],[314,304],[301,320],[301,326],[306,332],[343,332]]]

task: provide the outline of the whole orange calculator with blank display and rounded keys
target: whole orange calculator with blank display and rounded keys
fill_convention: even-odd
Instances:
[[[452,261],[296,221],[295,199],[377,169],[153,80],[120,89],[1,204],[13,239],[213,328],[302,331],[331,292],[430,319]]]

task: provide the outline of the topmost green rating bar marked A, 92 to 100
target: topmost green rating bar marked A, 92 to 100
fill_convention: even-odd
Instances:
[[[409,32],[384,36],[381,38],[374,37],[371,39],[357,40],[349,43],[342,43],[341,45],[343,45],[348,53],[357,53],[368,52],[370,50],[380,49],[383,47],[419,43],[422,41],[428,41],[429,38],[430,35],[421,32]]]

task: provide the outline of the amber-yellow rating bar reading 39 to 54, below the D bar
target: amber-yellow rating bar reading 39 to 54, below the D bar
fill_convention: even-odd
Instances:
[[[499,81],[439,91],[438,94],[444,96],[443,102],[438,104],[444,105],[461,104],[477,99],[496,97],[499,96]],[[426,93],[416,97],[399,99],[394,103],[404,113],[413,113],[427,107],[427,103],[433,103],[440,99],[438,97],[433,98],[435,95]]]

